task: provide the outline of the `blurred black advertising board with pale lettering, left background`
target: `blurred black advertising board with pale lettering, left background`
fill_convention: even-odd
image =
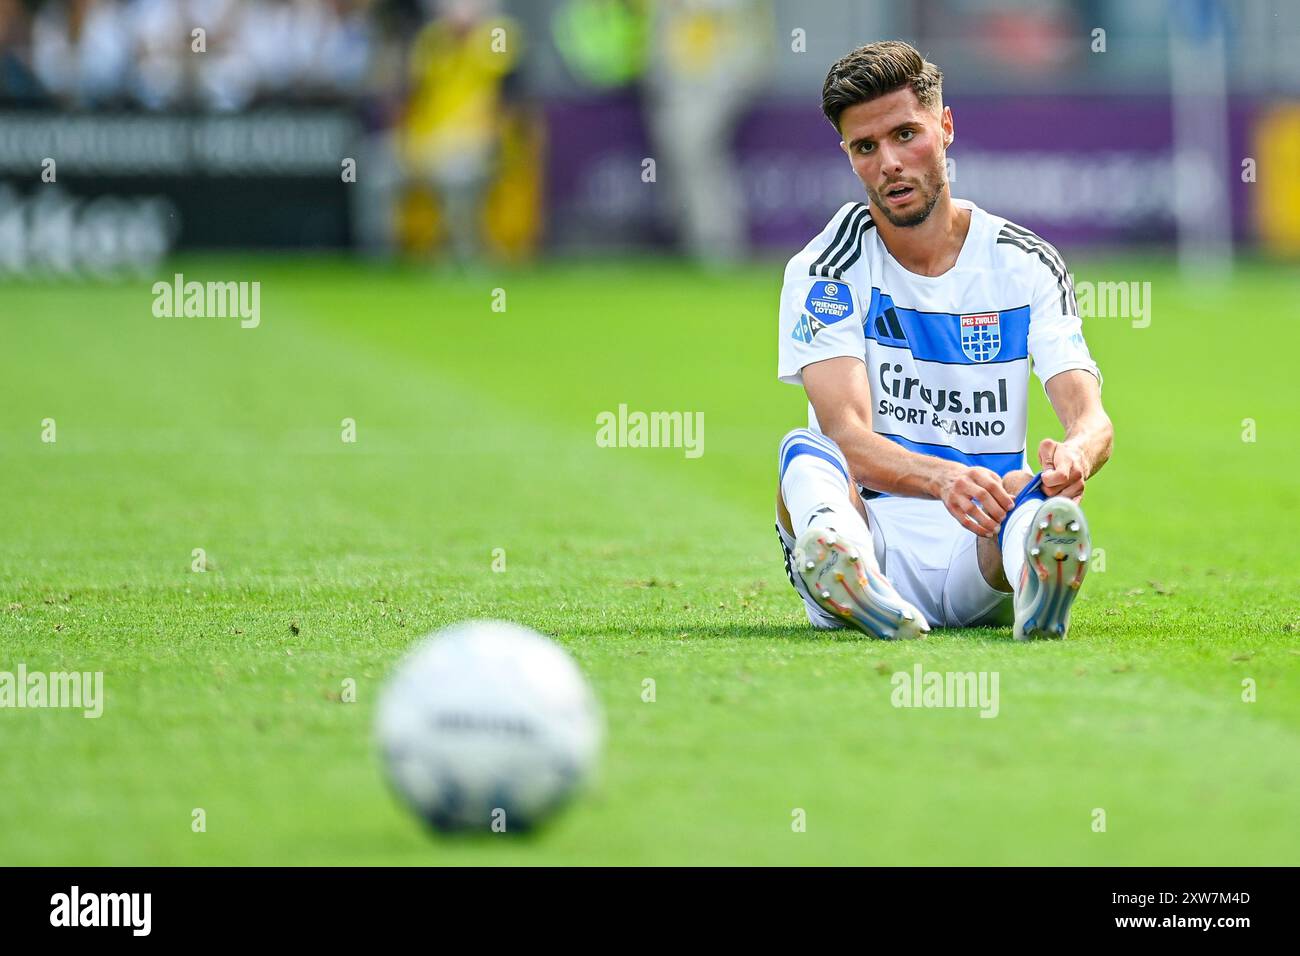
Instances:
[[[0,274],[148,271],[176,248],[350,242],[347,111],[0,113]]]

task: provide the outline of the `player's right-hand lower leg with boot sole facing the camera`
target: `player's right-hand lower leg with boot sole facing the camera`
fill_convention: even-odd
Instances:
[[[980,538],[980,572],[998,591],[1013,591],[1017,640],[1065,637],[1088,571],[1088,522],[1069,498],[1048,498],[1037,476],[1013,475],[1004,484],[1015,503],[998,538]]]

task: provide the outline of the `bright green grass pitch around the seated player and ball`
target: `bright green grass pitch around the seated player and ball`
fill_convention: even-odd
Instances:
[[[0,864],[1300,864],[1300,277],[1075,268],[1150,281],[1152,323],[1086,323],[1106,566],[1028,645],[806,626],[779,264],[177,264],[260,281],[248,330],[153,317],[152,278],[5,287],[0,670],[103,670],[107,705],[0,710]],[[705,412],[703,455],[598,447],[619,403]],[[594,786],[526,839],[430,836],[372,744],[391,665],[476,617],[556,637],[607,713]],[[997,671],[998,717],[890,706],[916,662]]]

